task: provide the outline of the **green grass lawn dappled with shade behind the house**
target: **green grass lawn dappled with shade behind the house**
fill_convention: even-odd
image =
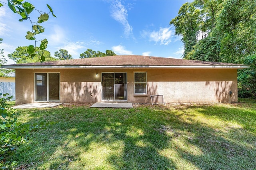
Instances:
[[[19,169],[254,169],[256,100],[234,104],[20,109],[33,132]]]

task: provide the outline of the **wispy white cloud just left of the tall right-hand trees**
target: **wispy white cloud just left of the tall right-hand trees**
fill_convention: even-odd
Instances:
[[[172,26],[167,27],[167,28],[162,28],[158,31],[143,31],[141,33],[141,36],[143,38],[149,38],[150,41],[154,41],[156,43],[160,42],[160,45],[168,45],[170,42],[172,42],[171,38],[174,36],[174,29]]]

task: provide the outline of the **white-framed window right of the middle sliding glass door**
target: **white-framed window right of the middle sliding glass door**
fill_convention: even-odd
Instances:
[[[147,72],[134,73],[134,94],[147,94]]]

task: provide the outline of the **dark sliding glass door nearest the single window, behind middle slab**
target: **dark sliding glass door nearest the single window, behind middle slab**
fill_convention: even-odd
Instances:
[[[127,101],[126,73],[102,73],[102,101]]]

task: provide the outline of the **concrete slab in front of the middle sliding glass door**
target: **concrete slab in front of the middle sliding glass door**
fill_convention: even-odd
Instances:
[[[90,107],[98,108],[132,108],[132,103],[106,103],[106,102],[97,102]]]

